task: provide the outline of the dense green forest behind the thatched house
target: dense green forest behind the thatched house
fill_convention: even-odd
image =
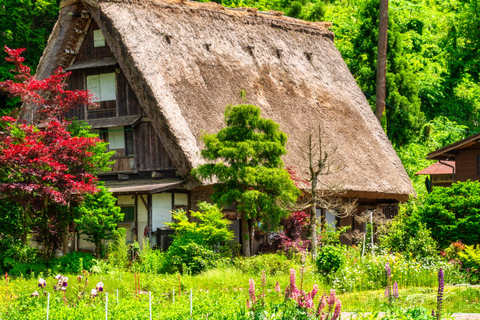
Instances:
[[[335,44],[375,108],[379,0],[216,0],[330,21]],[[59,12],[58,0],[0,0],[0,45],[27,48],[36,67]],[[1,55],[4,55],[2,52]],[[11,77],[0,56],[0,81]],[[387,98],[382,120],[417,193],[427,153],[480,132],[480,0],[390,0]],[[0,115],[19,101],[0,96]]]

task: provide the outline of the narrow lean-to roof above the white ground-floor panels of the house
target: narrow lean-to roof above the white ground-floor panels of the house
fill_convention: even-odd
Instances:
[[[139,179],[139,180],[115,180],[106,181],[105,187],[114,194],[119,193],[158,193],[174,188],[182,187],[185,181],[181,179]]]

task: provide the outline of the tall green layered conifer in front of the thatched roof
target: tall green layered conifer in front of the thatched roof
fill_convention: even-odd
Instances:
[[[287,135],[273,120],[264,119],[252,105],[228,106],[227,127],[202,137],[202,157],[208,163],[192,173],[199,179],[215,179],[213,200],[237,204],[241,213],[242,249],[250,256],[250,234],[255,222],[270,231],[278,228],[288,211],[280,203],[294,202],[300,194],[283,168]]]

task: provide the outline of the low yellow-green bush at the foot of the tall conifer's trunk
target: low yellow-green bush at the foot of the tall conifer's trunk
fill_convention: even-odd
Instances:
[[[267,275],[288,274],[295,263],[282,254],[262,254],[251,258],[240,257],[234,265],[243,273],[258,275],[265,271]]]

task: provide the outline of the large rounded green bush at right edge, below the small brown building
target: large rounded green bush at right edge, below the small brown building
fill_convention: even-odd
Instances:
[[[468,245],[480,243],[480,182],[434,188],[416,214],[432,230],[441,248],[458,240]]]

